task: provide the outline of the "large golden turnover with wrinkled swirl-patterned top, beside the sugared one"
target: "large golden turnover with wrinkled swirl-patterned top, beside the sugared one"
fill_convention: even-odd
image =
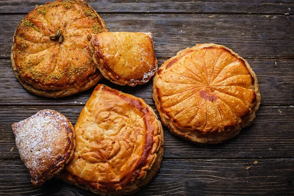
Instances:
[[[66,182],[103,196],[131,194],[160,167],[162,126],[141,98],[98,84],[74,130],[73,160],[59,175]]]

